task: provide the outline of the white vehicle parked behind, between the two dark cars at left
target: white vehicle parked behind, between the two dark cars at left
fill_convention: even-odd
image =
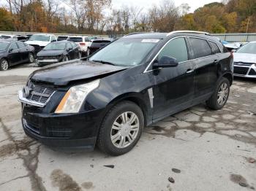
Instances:
[[[53,34],[33,34],[30,36],[29,40],[26,41],[26,44],[34,47],[34,51],[37,54],[37,52],[41,51],[50,42],[56,41],[56,36]]]

